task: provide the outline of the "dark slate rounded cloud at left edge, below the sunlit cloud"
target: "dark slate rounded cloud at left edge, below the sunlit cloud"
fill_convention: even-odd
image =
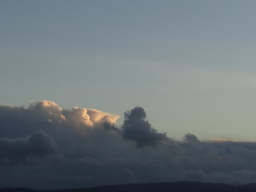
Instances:
[[[43,162],[59,154],[57,144],[44,131],[26,138],[0,138],[0,165]]]

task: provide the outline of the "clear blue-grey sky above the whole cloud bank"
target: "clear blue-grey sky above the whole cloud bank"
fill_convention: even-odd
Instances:
[[[46,99],[121,117],[142,106],[170,138],[255,141],[255,9],[233,0],[2,0],[0,103]]]

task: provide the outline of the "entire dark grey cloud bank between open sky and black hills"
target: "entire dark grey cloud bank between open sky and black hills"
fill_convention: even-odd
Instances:
[[[0,187],[129,182],[256,182],[256,143],[182,141],[158,133],[142,107],[118,115],[55,102],[0,106]]]

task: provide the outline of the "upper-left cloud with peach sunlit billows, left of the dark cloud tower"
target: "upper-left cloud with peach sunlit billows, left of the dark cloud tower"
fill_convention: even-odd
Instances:
[[[74,107],[62,110],[55,102],[34,102],[27,109],[14,106],[0,106],[0,122],[3,135],[10,137],[30,134],[36,130],[50,130],[50,127],[68,126],[82,132],[97,128],[105,123],[110,125],[118,119],[118,115],[108,114],[100,110]]]

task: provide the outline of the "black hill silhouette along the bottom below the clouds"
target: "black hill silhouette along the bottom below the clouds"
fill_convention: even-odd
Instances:
[[[123,184],[113,186],[95,186],[81,189],[64,190],[30,190],[26,188],[6,188],[0,189],[0,192],[252,192],[256,191],[256,184],[243,186],[232,186],[226,184],[213,184],[202,182],[158,182],[146,184]]]

